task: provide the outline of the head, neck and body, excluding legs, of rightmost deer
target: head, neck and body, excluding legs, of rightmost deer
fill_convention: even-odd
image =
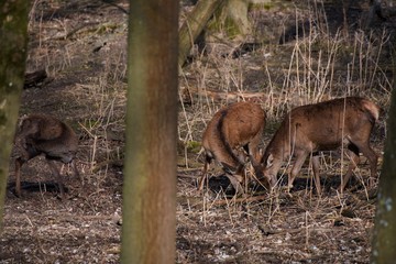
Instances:
[[[334,150],[344,140],[369,141],[380,108],[360,97],[346,97],[293,109],[267,145],[262,163],[274,166],[276,174],[280,163],[294,152]]]

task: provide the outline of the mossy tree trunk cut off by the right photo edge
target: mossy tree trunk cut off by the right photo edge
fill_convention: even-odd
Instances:
[[[372,243],[371,263],[396,260],[396,92],[392,92],[387,120],[384,164],[380,176],[378,201]]]

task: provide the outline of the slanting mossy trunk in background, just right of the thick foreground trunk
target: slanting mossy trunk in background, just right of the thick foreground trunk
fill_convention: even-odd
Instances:
[[[187,19],[179,31],[178,65],[180,67],[185,64],[194,42],[204,31],[208,21],[222,2],[223,0],[200,0],[191,13],[187,15]]]

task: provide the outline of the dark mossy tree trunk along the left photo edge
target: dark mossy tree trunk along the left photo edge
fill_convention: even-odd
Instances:
[[[7,176],[23,87],[29,1],[0,1],[0,229]]]

